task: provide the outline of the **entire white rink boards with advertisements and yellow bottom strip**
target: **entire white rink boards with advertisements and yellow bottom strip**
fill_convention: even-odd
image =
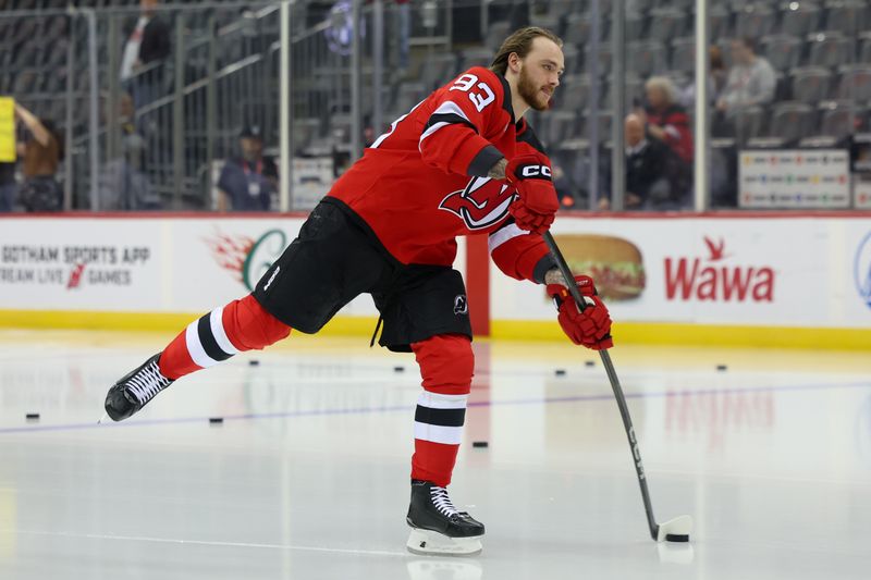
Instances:
[[[175,329],[250,292],[303,221],[3,218],[0,324]],[[867,212],[562,217],[553,233],[573,269],[593,274],[625,341],[871,346]],[[459,242],[455,267],[465,274],[475,257]],[[470,295],[489,297],[478,304],[489,306],[493,336],[560,337],[542,287],[495,266],[489,284],[474,284]],[[329,331],[365,334],[376,316],[361,296]]]

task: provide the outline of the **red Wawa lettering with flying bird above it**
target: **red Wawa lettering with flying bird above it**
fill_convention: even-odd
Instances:
[[[668,300],[774,300],[774,269],[733,266],[723,238],[704,237],[708,258],[665,258],[665,297]]]

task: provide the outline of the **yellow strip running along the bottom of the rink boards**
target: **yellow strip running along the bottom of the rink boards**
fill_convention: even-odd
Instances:
[[[0,328],[86,329],[181,332],[201,313],[94,312],[70,310],[0,310]],[[375,317],[335,317],[319,334],[371,336]],[[491,338],[563,342],[556,321],[494,320]],[[871,329],[810,329],[618,322],[616,344],[741,346],[871,350]]]

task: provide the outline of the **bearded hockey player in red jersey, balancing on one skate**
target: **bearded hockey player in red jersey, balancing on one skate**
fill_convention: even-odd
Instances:
[[[447,496],[471,384],[471,328],[463,279],[451,268],[458,235],[489,235],[507,275],[548,284],[576,344],[609,348],[611,319],[592,281],[577,281],[579,312],[541,235],[559,209],[551,166],[524,120],[560,85],[562,40],[526,27],[489,69],[464,72],[393,122],[332,187],[254,293],[192,322],[109,390],[115,421],[173,381],[236,353],[316,333],[352,298],[371,294],[379,344],[413,351],[424,391],[415,412],[408,548],[481,550],[484,527]],[[377,331],[376,331],[377,332]]]

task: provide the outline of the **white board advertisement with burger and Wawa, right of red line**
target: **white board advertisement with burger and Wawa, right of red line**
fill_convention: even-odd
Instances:
[[[871,326],[871,219],[557,219],[552,231],[614,320]],[[554,316],[540,286],[493,268],[491,287],[495,320]]]

